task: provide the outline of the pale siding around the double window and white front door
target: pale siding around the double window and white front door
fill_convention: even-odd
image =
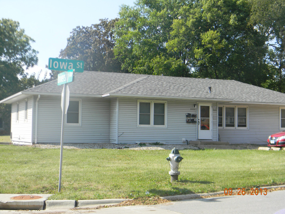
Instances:
[[[151,100],[149,100],[152,102]],[[159,103],[159,100],[154,100]],[[153,101],[153,102],[154,102]],[[197,123],[186,123],[186,113],[197,114],[196,101],[162,100],[167,102],[165,111],[167,127],[137,126],[138,102],[136,99],[119,99],[119,143],[165,142],[182,143],[182,139],[197,140]],[[217,111],[213,112],[213,140],[217,141]]]

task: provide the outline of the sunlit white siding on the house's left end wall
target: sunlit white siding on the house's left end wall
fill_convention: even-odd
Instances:
[[[32,143],[32,105],[33,97],[12,104],[11,132],[14,144]]]

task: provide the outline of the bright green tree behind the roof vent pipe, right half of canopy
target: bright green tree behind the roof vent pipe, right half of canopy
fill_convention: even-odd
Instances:
[[[193,76],[235,79],[261,86],[268,78],[266,37],[249,24],[247,0],[201,0],[183,6],[172,25],[168,51]]]

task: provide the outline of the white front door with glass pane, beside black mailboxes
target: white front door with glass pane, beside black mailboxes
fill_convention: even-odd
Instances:
[[[198,103],[198,139],[212,139],[212,103]]]

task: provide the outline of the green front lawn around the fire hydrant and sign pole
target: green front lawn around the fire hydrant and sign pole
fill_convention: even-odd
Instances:
[[[59,149],[0,145],[0,193],[52,193],[50,199],[166,196],[285,183],[285,151],[180,150],[179,181],[171,183],[170,150],[65,149],[58,190]],[[4,157],[4,158],[3,158]]]

